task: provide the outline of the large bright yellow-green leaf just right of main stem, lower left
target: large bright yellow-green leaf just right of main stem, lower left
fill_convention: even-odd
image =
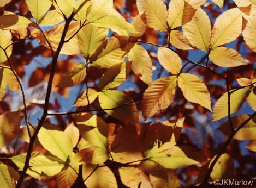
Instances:
[[[69,135],[63,131],[50,130],[42,127],[38,134],[41,145],[62,161],[73,155],[73,144]]]

